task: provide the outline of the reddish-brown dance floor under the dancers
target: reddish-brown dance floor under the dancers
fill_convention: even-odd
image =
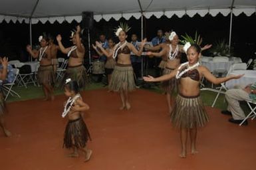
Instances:
[[[8,104],[7,125],[13,136],[0,133],[0,169],[255,169],[256,120],[239,127],[229,116],[207,107],[209,124],[198,134],[197,155],[178,157],[179,133],[172,129],[161,94],[138,90],[130,96],[132,109],[119,111],[117,94],[87,91],[86,124],[92,135],[90,161],[68,158],[62,148],[66,119],[64,96],[54,102],[30,100]]]

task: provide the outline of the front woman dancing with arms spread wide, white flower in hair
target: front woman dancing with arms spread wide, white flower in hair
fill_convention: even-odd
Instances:
[[[187,53],[188,62],[181,64],[174,72],[158,78],[153,78],[152,76],[144,77],[144,80],[147,82],[160,82],[174,77],[180,79],[179,94],[171,114],[171,122],[175,128],[180,129],[180,140],[182,143],[180,157],[182,158],[185,158],[187,154],[188,133],[190,134],[191,151],[192,154],[195,154],[197,153],[195,145],[197,128],[205,126],[209,121],[200,98],[199,84],[201,78],[204,76],[210,82],[220,84],[243,76],[229,75],[224,78],[215,78],[205,66],[199,66],[198,59],[201,56],[201,49],[197,44],[190,46],[190,43],[187,43],[184,46],[184,51]]]

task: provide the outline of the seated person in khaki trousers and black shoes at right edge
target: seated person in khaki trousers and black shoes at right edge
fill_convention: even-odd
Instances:
[[[245,113],[239,105],[239,101],[256,100],[256,82],[249,84],[243,89],[227,90],[225,94],[227,100],[227,110],[221,111],[222,114],[231,115],[229,122],[233,124],[241,124],[245,119]],[[247,120],[243,123],[244,126],[248,124]]]

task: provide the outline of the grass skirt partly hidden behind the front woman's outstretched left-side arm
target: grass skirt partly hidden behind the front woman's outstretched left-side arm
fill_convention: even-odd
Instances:
[[[171,68],[164,68],[163,75],[170,74],[174,69]],[[162,82],[161,88],[164,92],[172,93],[176,87],[178,86],[178,80],[174,77],[170,80],[166,80]]]

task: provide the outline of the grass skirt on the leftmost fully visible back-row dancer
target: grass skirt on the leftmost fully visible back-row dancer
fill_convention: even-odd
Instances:
[[[37,71],[37,80],[39,84],[55,84],[55,72],[53,71],[53,65],[39,66]]]

